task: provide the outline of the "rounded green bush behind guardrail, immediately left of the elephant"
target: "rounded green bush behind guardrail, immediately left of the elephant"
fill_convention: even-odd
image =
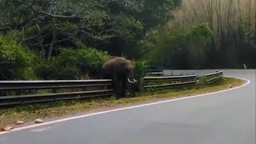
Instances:
[[[98,76],[102,64],[111,57],[100,50],[80,47],[62,49],[58,57],[38,66],[38,77],[43,79],[85,79]]]

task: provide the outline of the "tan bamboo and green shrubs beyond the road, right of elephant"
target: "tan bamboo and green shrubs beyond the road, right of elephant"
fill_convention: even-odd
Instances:
[[[156,65],[256,68],[256,1],[183,0],[174,19],[148,37],[154,39],[143,46],[143,56]]]

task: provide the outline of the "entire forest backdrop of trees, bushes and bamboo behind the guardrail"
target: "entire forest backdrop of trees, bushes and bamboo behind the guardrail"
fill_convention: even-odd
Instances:
[[[256,67],[251,0],[1,0],[0,80],[98,78],[112,56],[170,69]]]

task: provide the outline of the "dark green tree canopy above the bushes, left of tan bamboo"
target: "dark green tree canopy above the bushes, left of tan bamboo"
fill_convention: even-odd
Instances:
[[[22,43],[46,58],[77,42],[121,55],[147,30],[167,20],[178,0],[1,1],[2,31],[18,30]]]

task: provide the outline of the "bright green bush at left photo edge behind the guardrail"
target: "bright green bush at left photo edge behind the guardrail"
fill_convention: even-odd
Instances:
[[[36,55],[0,34],[0,80],[33,79]]]

